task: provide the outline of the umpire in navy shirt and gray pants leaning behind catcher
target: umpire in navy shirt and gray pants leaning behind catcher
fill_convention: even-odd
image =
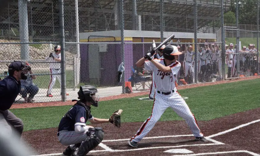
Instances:
[[[8,109],[15,102],[16,97],[21,91],[20,80],[26,80],[29,66],[23,62],[15,61],[8,66],[9,76],[0,81],[0,126],[5,128],[7,133],[14,128],[19,137],[23,132],[24,124]]]

